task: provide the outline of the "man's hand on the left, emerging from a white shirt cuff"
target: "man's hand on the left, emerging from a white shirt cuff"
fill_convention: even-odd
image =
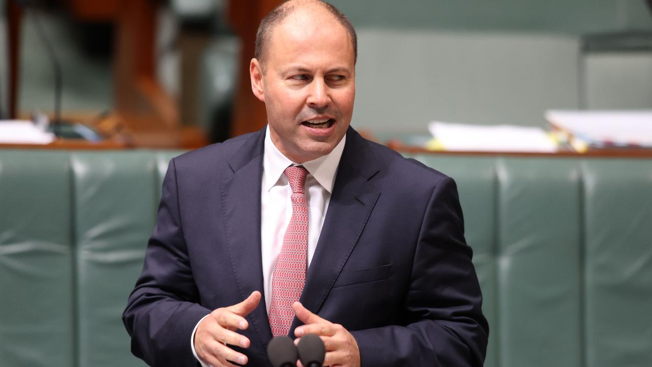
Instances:
[[[246,330],[249,323],[244,319],[260,302],[260,292],[254,291],[246,300],[233,306],[213,310],[198,325],[195,332],[194,347],[197,357],[203,362],[218,366],[233,366],[229,360],[246,364],[246,355],[228,347],[238,345],[248,348],[250,341],[235,330]]]

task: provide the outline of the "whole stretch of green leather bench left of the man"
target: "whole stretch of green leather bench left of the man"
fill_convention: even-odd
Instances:
[[[181,152],[0,150],[0,366],[143,366],[120,315]]]

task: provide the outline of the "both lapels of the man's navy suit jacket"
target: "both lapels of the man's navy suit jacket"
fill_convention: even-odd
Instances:
[[[368,142],[350,127],[346,139],[333,195],[301,295],[301,302],[314,313],[331,291],[380,195],[369,183],[379,170]],[[220,183],[231,266],[242,299],[255,290],[263,293],[260,193],[264,140],[264,129],[250,136],[229,163],[233,174]],[[262,345],[267,345],[272,332],[265,295],[249,319]],[[298,325],[295,318],[290,335]]]

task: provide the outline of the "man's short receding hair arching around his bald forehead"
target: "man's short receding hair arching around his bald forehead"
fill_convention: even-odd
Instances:
[[[263,20],[261,20],[258,27],[258,33],[256,33],[256,49],[254,50],[254,57],[258,59],[261,67],[265,68],[265,62],[267,61],[267,53],[269,52],[269,46],[273,41],[272,35],[273,31],[279,24],[282,24],[285,20],[288,20],[291,14],[294,14],[296,10],[308,10],[310,12],[324,12],[329,17],[332,17],[335,22],[338,22],[349,34],[351,39],[351,44],[353,45],[353,53],[355,56],[355,61],[357,61],[358,56],[358,40],[357,35],[355,34],[355,29],[353,25],[349,22],[349,19],[344,15],[338,8],[333,5],[321,1],[321,0],[290,0],[278,5],[271,12],[269,12]],[[296,14],[295,14],[296,15]]]

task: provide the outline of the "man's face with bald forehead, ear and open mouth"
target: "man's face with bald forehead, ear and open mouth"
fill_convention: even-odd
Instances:
[[[250,76],[254,94],[265,102],[272,142],[296,163],[330,153],[353,114],[348,32],[321,8],[297,9],[272,31],[266,56],[264,66],[252,60]]]

